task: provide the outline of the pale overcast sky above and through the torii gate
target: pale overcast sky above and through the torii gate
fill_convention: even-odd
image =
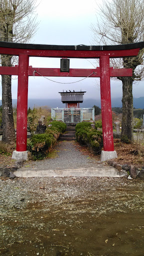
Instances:
[[[94,44],[90,25],[96,22],[96,2],[99,3],[100,0],[41,0],[37,8],[39,28],[31,42],[61,45]],[[29,65],[60,68],[60,59],[30,57]],[[93,65],[97,66],[95,60],[92,59],[70,59],[70,68],[93,68]],[[17,98],[17,79],[13,78],[12,98]],[[60,82],[73,82],[81,79],[81,77],[49,78]],[[59,98],[58,91],[68,89],[86,91],[84,98],[100,98],[99,78],[86,78],[72,84],[60,84],[44,77],[29,77],[28,79],[28,98]],[[122,96],[121,82],[111,80],[111,97],[120,96]],[[143,81],[133,85],[133,96],[144,96]]]

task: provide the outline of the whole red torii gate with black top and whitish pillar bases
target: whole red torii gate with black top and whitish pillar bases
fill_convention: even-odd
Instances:
[[[144,42],[87,46],[87,45],[45,45],[9,43],[0,41],[0,54],[18,55],[18,65],[1,66],[0,74],[18,75],[17,89],[17,125],[16,150],[12,158],[27,159],[27,94],[28,76],[37,71],[43,76],[88,76],[100,77],[101,116],[103,132],[103,151],[101,160],[117,156],[113,146],[110,76],[132,76],[132,69],[113,69],[109,67],[109,58],[135,56]],[[96,69],[71,68],[69,72],[60,72],[60,68],[37,68],[28,65],[29,56],[60,57],[60,58],[99,58]],[[35,76],[39,75],[35,72]]]

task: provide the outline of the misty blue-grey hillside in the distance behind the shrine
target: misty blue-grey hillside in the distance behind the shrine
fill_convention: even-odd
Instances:
[[[12,99],[12,105],[16,105],[17,99]],[[1,100],[0,100],[1,105]],[[32,108],[33,106],[48,106],[48,107],[65,107],[65,104],[61,102],[61,98],[58,99],[28,99],[28,107]],[[80,107],[92,107],[93,105],[99,106],[100,99],[83,99],[83,103],[80,103]],[[111,99],[112,107],[122,107],[121,98],[112,98]],[[135,108],[144,108],[144,97],[133,98],[133,107]]]

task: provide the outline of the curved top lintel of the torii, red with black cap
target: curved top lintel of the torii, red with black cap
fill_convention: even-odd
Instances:
[[[144,41],[120,45],[48,45],[27,44],[0,41],[0,54],[28,55],[43,57],[70,57],[70,58],[110,58],[135,56]]]

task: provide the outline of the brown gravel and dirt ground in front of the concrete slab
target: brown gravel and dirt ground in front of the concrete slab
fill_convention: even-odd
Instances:
[[[139,179],[0,179],[0,255],[142,256]]]

